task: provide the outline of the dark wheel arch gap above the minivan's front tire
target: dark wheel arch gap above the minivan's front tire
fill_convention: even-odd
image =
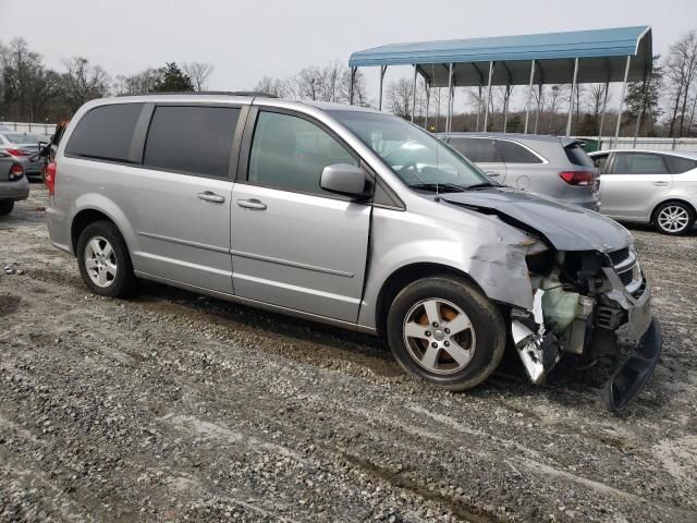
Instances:
[[[477,281],[472,276],[455,267],[432,262],[408,264],[394,270],[394,272],[392,272],[380,287],[375,313],[375,321],[378,332],[386,331],[390,305],[400,293],[400,291],[409,283],[413,283],[423,278],[435,276],[453,276],[463,278],[470,285],[473,285],[477,290],[477,292],[481,293],[482,296],[488,297],[481,285],[479,285],[479,283],[477,283]]]

